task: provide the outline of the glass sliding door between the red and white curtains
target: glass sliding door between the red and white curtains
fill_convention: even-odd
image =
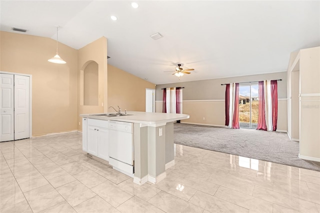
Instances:
[[[239,84],[239,124],[240,128],[256,128],[258,122],[258,84]]]

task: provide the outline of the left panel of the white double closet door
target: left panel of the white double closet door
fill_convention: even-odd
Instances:
[[[0,141],[13,140],[13,74],[0,74],[0,89]]]

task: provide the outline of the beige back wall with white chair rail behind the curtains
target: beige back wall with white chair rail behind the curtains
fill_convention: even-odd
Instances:
[[[182,112],[190,118],[181,122],[205,125],[224,126],[224,95],[225,86],[221,83],[258,81],[265,79],[282,79],[278,81],[278,121],[277,130],[287,130],[287,100],[286,100],[286,72],[257,74],[239,77],[198,80],[171,84],[156,85],[155,111],[162,112],[162,90],[165,87],[182,86]],[[204,119],[203,119],[204,118]]]

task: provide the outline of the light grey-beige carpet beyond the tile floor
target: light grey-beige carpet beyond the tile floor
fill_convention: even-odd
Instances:
[[[298,157],[286,133],[174,123],[174,143],[320,171],[320,162]]]

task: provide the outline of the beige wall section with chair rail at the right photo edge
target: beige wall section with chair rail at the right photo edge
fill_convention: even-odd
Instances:
[[[320,161],[320,47],[300,50],[299,157]]]

